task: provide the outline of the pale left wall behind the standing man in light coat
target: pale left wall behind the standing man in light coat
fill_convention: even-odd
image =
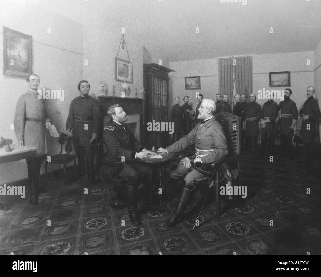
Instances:
[[[60,127],[65,129],[70,102],[78,95],[77,84],[82,80],[82,24],[30,3],[25,5],[13,3],[1,5],[0,26],[1,53],[3,53],[2,26],[32,35],[33,72],[40,76],[39,89],[45,87],[50,90],[65,91],[63,102],[57,99],[47,100],[54,125],[57,129]],[[48,28],[51,28],[51,33],[48,33]],[[2,54],[0,67],[3,68]],[[0,83],[2,92],[0,134],[13,139],[13,143],[16,143],[10,124],[13,123],[17,99],[27,91],[28,85],[25,78],[3,75],[2,70]],[[49,154],[59,153],[60,145],[57,143],[57,138],[50,137],[48,144]],[[52,166],[51,169],[55,170],[56,167]],[[0,165],[0,185],[27,177],[24,160]]]

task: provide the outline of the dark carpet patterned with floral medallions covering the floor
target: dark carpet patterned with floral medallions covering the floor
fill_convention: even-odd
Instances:
[[[173,160],[173,163],[177,158]],[[73,176],[71,176],[72,178]],[[221,196],[221,217],[215,217],[214,189],[193,219],[207,191],[194,191],[186,220],[173,229],[163,224],[175,210],[178,192],[168,186],[165,207],[139,203],[143,224],[134,226],[127,209],[113,209],[112,185],[88,186],[86,176],[64,186],[42,181],[46,192],[39,204],[13,198],[0,210],[0,254],[14,255],[311,255],[321,254],[320,191],[305,175],[301,156],[294,161],[275,155],[274,161],[243,153],[241,182],[247,197],[229,201]],[[84,188],[88,188],[88,194]],[[310,188],[310,194],[307,194]],[[10,196],[11,197],[11,196]],[[125,226],[124,226],[125,224]]]

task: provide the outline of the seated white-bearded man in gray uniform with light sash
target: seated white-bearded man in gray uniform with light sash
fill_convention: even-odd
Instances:
[[[179,223],[184,210],[187,207],[189,198],[192,196],[196,185],[206,181],[211,176],[191,168],[191,163],[202,163],[209,166],[211,163],[224,159],[228,154],[227,140],[221,124],[213,116],[216,107],[215,102],[204,99],[199,108],[197,123],[195,128],[176,143],[165,148],[159,148],[159,153],[173,153],[195,145],[195,159],[181,160],[181,162],[170,169],[171,179],[180,180],[183,183],[182,192],[178,200],[177,209],[172,218],[164,224],[165,228],[172,228]],[[193,160],[194,159],[194,160]],[[184,180],[181,180],[184,178]]]

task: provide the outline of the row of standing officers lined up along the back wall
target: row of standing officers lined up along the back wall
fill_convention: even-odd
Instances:
[[[256,153],[257,137],[261,130],[262,143],[259,153],[256,154],[256,158],[264,156],[267,144],[269,145],[269,153],[273,154],[275,136],[277,130],[279,130],[283,148],[282,156],[288,155],[289,159],[293,160],[292,138],[298,116],[300,115],[303,120],[300,137],[298,137],[301,139],[301,143],[311,143],[314,136],[317,134],[317,119],[320,117],[320,110],[317,101],[313,97],[314,93],[314,88],[309,86],[307,89],[308,100],[305,101],[300,113],[298,113],[295,102],[290,99],[292,91],[289,88],[284,90],[283,101],[280,101],[280,103],[277,104],[273,101],[274,95],[272,93],[264,103],[263,108],[256,102],[256,95],[254,93],[250,94],[249,103],[247,103],[246,94],[235,94],[233,109],[231,109],[229,105],[229,96],[227,94],[223,94],[222,96],[220,93],[217,93],[215,114],[228,112],[241,118],[241,148],[242,150],[247,149],[247,151],[252,154]],[[179,106],[179,100],[179,97],[175,98],[176,104],[172,107],[170,112],[170,120],[171,122],[174,122],[174,142],[178,141],[184,134],[190,132],[191,116],[194,115],[194,111],[190,105],[188,105],[188,96],[184,97],[185,104],[182,107]],[[203,101],[203,95],[199,94],[197,100],[198,105],[195,113],[196,124],[199,123],[197,116],[199,107]]]

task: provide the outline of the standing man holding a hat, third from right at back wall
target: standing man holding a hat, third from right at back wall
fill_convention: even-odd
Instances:
[[[274,96],[270,94],[269,100],[267,100],[262,109],[261,124],[262,133],[263,129],[268,130],[270,133],[268,138],[264,138],[262,135],[262,144],[260,154],[257,154],[256,158],[260,158],[265,153],[266,143],[269,142],[270,153],[273,153],[274,139],[275,139],[275,120],[278,116],[278,104],[273,101]]]

